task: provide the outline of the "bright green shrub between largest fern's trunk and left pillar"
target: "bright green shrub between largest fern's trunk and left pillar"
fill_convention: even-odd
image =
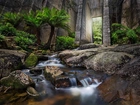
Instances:
[[[56,50],[74,48],[74,39],[69,36],[58,36],[56,38]]]

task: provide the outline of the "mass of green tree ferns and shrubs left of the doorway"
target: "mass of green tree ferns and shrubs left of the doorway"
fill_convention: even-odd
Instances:
[[[29,46],[34,45],[35,43],[37,43],[37,45],[41,44],[40,29],[45,23],[48,23],[51,26],[49,40],[44,45],[46,48],[50,48],[51,46],[55,27],[67,30],[69,35],[74,37],[74,33],[70,31],[70,27],[67,24],[69,16],[65,10],[43,8],[42,10],[30,11],[29,13],[17,14],[6,12],[1,15],[0,18],[0,40],[4,40],[4,36],[12,36],[14,37],[15,44],[24,50],[28,50]],[[22,24],[22,29],[19,28],[20,23],[24,23]],[[60,45],[60,40],[64,45]],[[60,37],[57,38],[57,43],[58,46],[60,46],[60,49],[64,49],[72,48],[74,41],[70,37]]]

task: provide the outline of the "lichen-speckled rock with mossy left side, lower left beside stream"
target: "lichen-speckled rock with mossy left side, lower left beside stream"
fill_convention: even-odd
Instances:
[[[16,70],[11,72],[9,76],[2,78],[0,84],[14,89],[25,89],[30,85],[34,85],[34,82],[28,75]]]

